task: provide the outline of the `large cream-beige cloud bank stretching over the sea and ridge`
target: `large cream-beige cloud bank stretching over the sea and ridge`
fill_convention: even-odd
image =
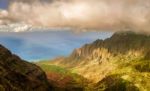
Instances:
[[[8,12],[35,26],[150,32],[149,0],[11,0]]]

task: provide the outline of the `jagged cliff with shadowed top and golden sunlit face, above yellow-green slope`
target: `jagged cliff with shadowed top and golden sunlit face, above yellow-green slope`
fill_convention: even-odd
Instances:
[[[111,72],[115,73],[120,69],[120,66],[124,67],[121,70],[123,72],[125,72],[125,68],[129,68],[131,72],[132,69],[149,72],[149,60],[150,36],[121,32],[115,33],[108,39],[96,40],[91,44],[86,44],[79,49],[75,49],[69,57],[60,58],[51,63],[71,67],[78,74],[97,83]],[[143,74],[141,73],[141,75]]]

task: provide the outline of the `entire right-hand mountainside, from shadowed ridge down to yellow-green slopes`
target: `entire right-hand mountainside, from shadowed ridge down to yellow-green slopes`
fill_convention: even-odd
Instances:
[[[150,36],[115,33],[49,64],[65,67],[92,81],[93,91],[149,91]]]

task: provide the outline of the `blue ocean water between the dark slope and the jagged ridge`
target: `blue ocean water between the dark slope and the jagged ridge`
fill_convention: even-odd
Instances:
[[[27,61],[68,56],[75,48],[96,39],[105,39],[111,32],[47,31],[0,33],[0,44]]]

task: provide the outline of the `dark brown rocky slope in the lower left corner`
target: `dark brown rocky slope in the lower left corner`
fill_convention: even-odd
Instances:
[[[45,73],[0,45],[0,91],[51,91]]]

